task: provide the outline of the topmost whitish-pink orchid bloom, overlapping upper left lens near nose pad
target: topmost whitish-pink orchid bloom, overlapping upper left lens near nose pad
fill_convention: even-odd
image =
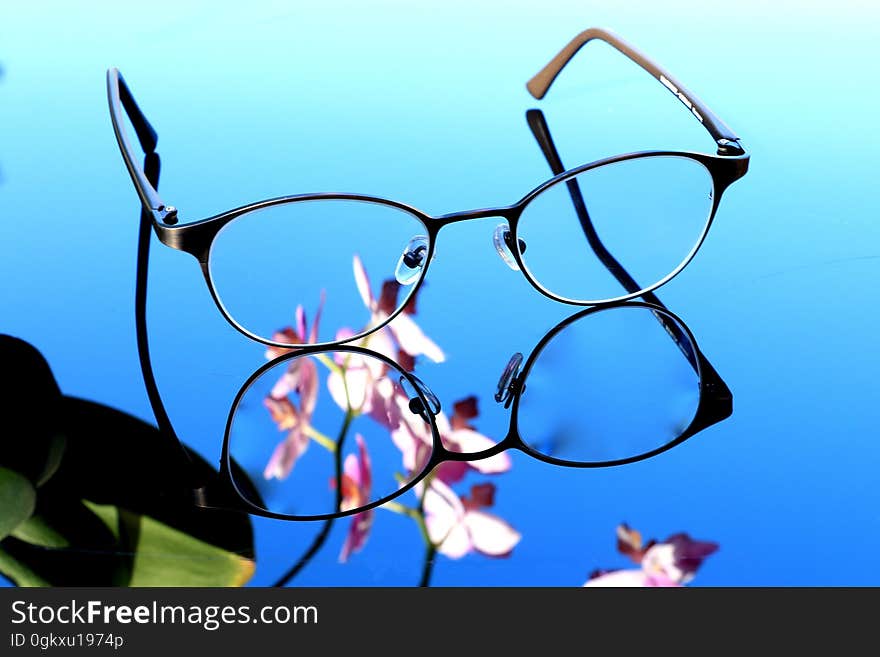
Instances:
[[[354,280],[357,285],[358,292],[364,305],[370,311],[370,324],[376,325],[384,321],[397,308],[397,294],[400,290],[400,284],[395,280],[385,281],[382,285],[382,293],[378,299],[373,296],[370,287],[370,279],[364,269],[364,264],[360,257],[355,254],[354,261]],[[395,317],[387,328],[394,337],[403,352],[401,363],[404,367],[410,365],[407,369],[412,369],[411,363],[408,361],[416,356],[424,354],[427,358],[435,363],[442,363],[446,356],[428,336],[424,334],[422,329],[416,324],[412,315],[415,313],[414,299],[410,300],[407,307],[403,309],[397,317]],[[407,358],[408,357],[408,358]]]

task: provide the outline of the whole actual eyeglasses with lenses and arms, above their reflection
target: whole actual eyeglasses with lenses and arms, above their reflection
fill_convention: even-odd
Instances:
[[[622,301],[659,287],[690,262],[724,190],[746,173],[749,156],[734,133],[675,78],[604,30],[587,30],[569,43],[529,82],[532,95],[543,97],[592,39],[610,44],[672,91],[712,135],[717,154],[645,151],[564,170],[558,156],[551,157],[553,149],[542,138],[543,121],[533,111],[529,123],[556,175],[510,206],[432,217],[371,196],[305,194],[177,225],[178,210],[162,201],[136,164],[122,110],[148,159],[155,156],[157,136],[116,69],[107,76],[110,113],[129,174],[159,239],[194,255],[223,316],[265,344],[286,346],[273,332],[286,323],[288,307],[282,303],[273,308],[255,290],[271,289],[284,299],[314,299],[328,285],[344,285],[327,290],[335,305],[325,309],[330,321],[324,325],[364,329],[345,340],[331,333],[311,342],[330,345],[363,337],[388,324],[413,298],[440,229],[467,219],[502,218],[495,232],[498,253],[546,296],[576,305]],[[291,245],[302,247],[295,258]],[[393,293],[374,293],[365,277],[356,276],[357,285],[351,285],[344,273],[353,262],[356,271],[394,279]],[[612,265],[624,264],[631,276],[620,294],[622,281]],[[635,279],[646,285],[635,285]]]

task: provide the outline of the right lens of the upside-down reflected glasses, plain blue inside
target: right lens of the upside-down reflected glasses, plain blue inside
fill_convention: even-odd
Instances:
[[[526,374],[517,417],[523,440],[577,463],[627,459],[672,442],[700,400],[696,348],[686,335],[671,316],[640,306],[569,324]]]

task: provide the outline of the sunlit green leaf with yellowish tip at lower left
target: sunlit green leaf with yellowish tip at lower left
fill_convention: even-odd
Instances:
[[[254,562],[200,541],[149,516],[86,501],[112,531],[133,541],[129,586],[242,586]],[[137,524],[132,531],[132,524]],[[123,531],[123,527],[125,530]]]

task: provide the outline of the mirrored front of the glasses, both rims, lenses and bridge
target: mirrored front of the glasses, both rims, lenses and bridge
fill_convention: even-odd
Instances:
[[[562,466],[632,463],[732,410],[690,330],[643,302],[564,320],[527,359],[514,355],[495,398],[511,407],[497,444],[446,418],[428,387],[388,356],[360,346],[297,349],[239,391],[221,473],[251,513],[327,519],[384,504],[444,467],[479,461],[491,472],[507,449]]]

